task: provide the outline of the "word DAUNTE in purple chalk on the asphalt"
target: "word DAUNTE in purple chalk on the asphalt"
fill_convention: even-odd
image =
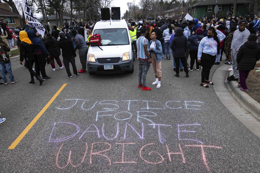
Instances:
[[[81,140],[82,138],[84,139],[84,136],[89,135],[89,133],[94,133],[94,135],[96,135],[96,139],[99,138],[105,138],[106,140],[114,140],[116,138],[121,138],[123,140],[129,140],[129,139],[140,139],[140,140],[144,140],[145,139],[145,134],[147,135],[147,137],[153,137],[154,139],[156,139],[156,137],[158,137],[158,140],[160,141],[160,143],[165,143],[167,142],[164,139],[164,135],[169,134],[168,132],[171,132],[173,130],[176,129],[176,126],[172,127],[171,125],[167,125],[167,124],[149,124],[148,126],[144,127],[144,123],[140,124],[140,127],[138,127],[139,129],[141,128],[142,130],[136,130],[134,126],[132,126],[129,123],[125,123],[125,126],[123,127],[119,127],[119,122],[117,123],[117,125],[115,127],[111,127],[109,125],[109,130],[104,130],[104,126],[105,124],[103,123],[102,126],[102,130],[101,127],[97,127],[95,124],[90,124],[90,126],[82,131],[80,133],[80,136],[78,135],[78,137],[75,137],[79,132],[80,132],[80,128],[79,126],[77,126],[76,124],[73,124],[71,122],[55,122],[53,124],[53,128],[51,130],[50,133],[50,137],[48,142],[61,142],[61,141],[66,141],[68,139],[71,139],[73,137],[78,138],[79,140]],[[152,127],[155,126],[156,128],[153,129]],[[198,123],[194,123],[194,124],[178,124],[177,125],[177,133],[178,133],[178,139],[179,141],[195,141],[198,142],[200,144],[203,144],[202,141],[199,141],[197,139],[186,139],[183,136],[187,135],[187,133],[196,133],[196,131],[190,131],[190,130],[185,130],[186,127],[190,126],[190,128],[196,128],[198,126],[201,126]],[[55,128],[57,128],[58,130],[55,130]],[[62,129],[62,130],[60,130]],[[67,129],[67,130],[66,130]],[[68,129],[72,130],[74,132],[68,132]],[[62,133],[60,133],[62,132]],[[67,134],[64,134],[64,132],[68,132]],[[121,132],[119,134],[119,132]],[[136,136],[129,136],[129,134],[132,134],[132,132],[136,133]],[[148,133],[151,132],[151,133]],[[107,134],[113,134],[112,137],[107,137]],[[151,136],[150,134],[154,135]],[[60,136],[59,136],[60,135]],[[55,136],[55,137],[52,137]],[[57,137],[59,136],[59,137]],[[55,139],[54,139],[55,138]],[[172,137],[170,137],[172,139]]]

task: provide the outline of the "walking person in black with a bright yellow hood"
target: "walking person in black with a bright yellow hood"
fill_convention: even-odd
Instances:
[[[43,79],[37,75],[33,71],[33,64],[34,64],[34,45],[31,43],[31,40],[28,38],[27,32],[21,31],[19,33],[21,43],[20,43],[20,64],[23,65],[23,60],[27,64],[27,68],[31,74],[31,81],[30,84],[35,84],[34,76],[40,81],[40,85],[42,85]]]

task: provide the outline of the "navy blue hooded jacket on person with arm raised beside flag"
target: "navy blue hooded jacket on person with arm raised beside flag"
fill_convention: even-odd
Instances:
[[[34,54],[46,54],[46,56],[49,56],[49,52],[46,50],[43,41],[36,36],[36,33],[33,29],[29,30],[29,26],[25,25],[25,31],[28,34],[28,38],[31,40],[31,42],[35,45],[34,48]]]

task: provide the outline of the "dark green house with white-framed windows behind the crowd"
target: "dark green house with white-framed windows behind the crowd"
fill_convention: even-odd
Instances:
[[[233,14],[233,16],[241,15],[244,17],[248,13],[249,3],[249,1],[237,0],[236,14]],[[189,6],[187,9],[193,18],[203,18],[204,15],[211,17],[215,15],[214,8],[216,5],[218,5],[217,17],[227,17],[228,10],[233,12],[234,9],[233,0],[204,0]]]

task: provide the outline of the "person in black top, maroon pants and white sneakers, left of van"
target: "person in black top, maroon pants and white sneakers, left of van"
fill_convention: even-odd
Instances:
[[[44,41],[44,46],[46,47],[47,51],[50,53],[50,65],[53,71],[55,71],[55,64],[54,64],[54,58],[57,62],[57,64],[60,66],[60,68],[62,69],[63,66],[61,64],[61,59],[60,59],[60,48],[57,46],[57,39],[56,38],[52,38],[50,33],[46,34],[47,36],[47,40]]]

